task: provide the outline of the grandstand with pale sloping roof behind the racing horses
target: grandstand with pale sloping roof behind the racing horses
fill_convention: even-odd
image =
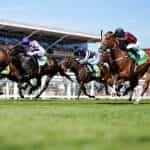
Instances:
[[[99,36],[46,26],[29,25],[12,21],[0,21],[0,46],[11,47],[25,36],[38,40],[48,53],[57,58],[72,55],[74,47],[88,47],[88,43],[99,42]]]

